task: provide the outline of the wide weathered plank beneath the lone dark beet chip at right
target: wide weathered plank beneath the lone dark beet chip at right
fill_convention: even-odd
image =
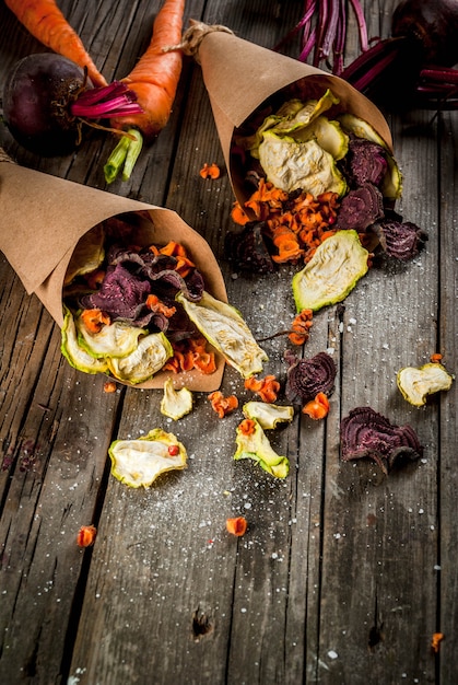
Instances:
[[[434,198],[427,193],[437,177],[435,137],[428,146],[422,139],[431,163],[419,170],[419,140],[409,123],[394,121],[392,130],[404,173],[402,212],[427,230],[430,240],[426,252],[406,268],[374,268],[347,299],[341,417],[353,407],[371,406],[394,423],[410,423],[425,453],[419,464],[388,477],[375,465],[339,464],[341,417],[329,420],[326,483],[334,488],[325,494],[320,654],[321,680],[330,683],[350,677],[363,683],[367,672],[380,683],[406,676],[434,680],[430,640],[436,616],[437,408],[434,403],[421,410],[410,407],[397,391],[396,373],[425,363],[435,351],[437,229]],[[400,652],[407,640],[410,648]]]

